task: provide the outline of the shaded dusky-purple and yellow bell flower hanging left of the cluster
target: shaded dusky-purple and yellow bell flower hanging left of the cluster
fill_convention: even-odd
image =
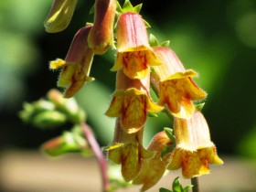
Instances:
[[[89,77],[93,52],[87,45],[87,37],[92,26],[82,27],[77,32],[65,60],[56,59],[50,62],[51,69],[62,68],[58,86],[66,88],[64,97],[70,98],[80,91],[85,82],[93,80]]]

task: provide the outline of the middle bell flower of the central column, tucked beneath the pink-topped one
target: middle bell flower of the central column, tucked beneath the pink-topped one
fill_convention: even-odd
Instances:
[[[131,80],[122,70],[117,72],[116,91],[106,115],[119,117],[127,133],[137,132],[144,126],[147,111],[160,112],[163,109],[150,98],[149,83],[149,74],[143,80]]]

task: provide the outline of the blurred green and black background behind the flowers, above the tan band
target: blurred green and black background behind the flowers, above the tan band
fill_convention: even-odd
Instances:
[[[37,149],[63,130],[41,131],[22,123],[24,101],[36,101],[56,88],[59,72],[48,61],[64,59],[76,31],[92,22],[94,1],[79,1],[69,27],[47,34],[43,21],[52,1],[0,2],[0,150]],[[132,1],[133,5],[143,1]],[[149,33],[170,48],[187,69],[199,73],[197,84],[208,92],[203,110],[219,154],[256,158],[256,1],[144,1]],[[112,141],[114,119],[105,117],[114,91],[114,56],[96,56],[87,84],[76,96],[88,113],[101,145]],[[165,115],[149,118],[145,144],[170,126]]]

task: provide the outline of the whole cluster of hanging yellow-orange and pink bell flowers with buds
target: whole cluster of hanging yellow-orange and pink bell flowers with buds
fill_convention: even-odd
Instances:
[[[47,31],[59,32],[67,27],[76,3],[55,0],[45,22]],[[61,69],[58,85],[66,88],[64,97],[69,98],[94,80],[90,77],[94,55],[116,48],[111,69],[116,72],[116,89],[105,112],[116,118],[116,125],[113,141],[105,151],[110,160],[122,165],[125,181],[143,185],[142,190],[146,190],[165,170],[181,167],[183,176],[190,178],[208,174],[208,164],[223,162],[210,141],[205,118],[193,103],[207,96],[192,80],[197,72],[185,69],[166,43],[151,44],[147,23],[139,14],[141,7],[129,1],[121,7],[116,0],[96,0],[94,23],[80,28],[66,59],[51,61],[50,68]],[[158,101],[150,96],[151,86]],[[165,108],[175,118],[175,135],[157,133],[145,149],[143,134],[148,112],[162,112]]]

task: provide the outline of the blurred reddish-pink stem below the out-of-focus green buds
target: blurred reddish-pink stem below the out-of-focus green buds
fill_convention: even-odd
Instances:
[[[87,139],[88,143],[91,145],[91,150],[93,154],[96,156],[98,163],[101,169],[101,180],[102,180],[102,191],[107,192],[109,191],[110,184],[109,184],[109,177],[108,177],[108,170],[104,155],[102,154],[101,147],[97,143],[94,134],[91,131],[91,127],[86,123],[81,123],[81,128]]]

